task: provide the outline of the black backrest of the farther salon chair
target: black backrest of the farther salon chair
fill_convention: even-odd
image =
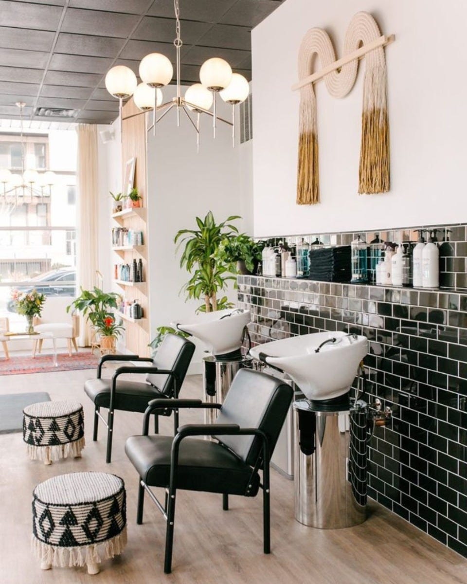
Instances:
[[[191,357],[194,353],[194,343],[191,340],[184,339],[179,335],[169,333],[165,335],[152,363],[158,369],[167,369],[173,371],[179,380],[179,390],[182,387],[183,380],[190,365]],[[172,397],[174,385],[173,377],[170,375],[161,375],[159,373],[148,373],[146,381],[162,391],[168,397]]]

